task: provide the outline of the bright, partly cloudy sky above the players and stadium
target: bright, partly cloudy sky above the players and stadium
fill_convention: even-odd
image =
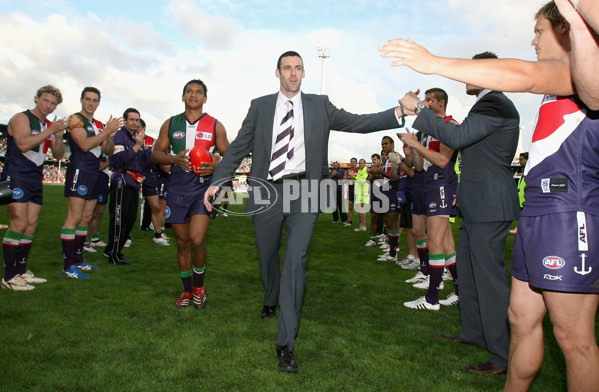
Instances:
[[[391,67],[378,48],[410,37],[440,56],[490,50],[534,61],[534,14],[546,1],[0,0],[0,123],[33,108],[43,85],[63,94],[58,117],[79,111],[81,90],[95,86],[102,92],[97,119],[135,107],[157,136],[184,110],[184,84],[199,78],[208,86],[204,111],[232,141],[250,101],[279,90],[276,61],[287,50],[304,60],[302,91],[320,93],[323,75],[323,93],[338,108],[374,113],[410,90],[440,87],[449,94],[447,113],[462,121],[475,101],[462,83]],[[318,44],[330,49],[324,66]],[[508,96],[520,112],[518,152],[526,151],[541,96]],[[382,136],[394,133],[331,132],[329,161],[370,161]]]

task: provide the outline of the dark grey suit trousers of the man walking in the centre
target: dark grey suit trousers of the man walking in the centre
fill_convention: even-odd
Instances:
[[[282,184],[273,184],[277,194],[283,194]],[[293,350],[299,330],[301,308],[306,290],[306,258],[318,212],[302,212],[301,199],[284,211],[283,197],[274,206],[254,216],[256,248],[264,283],[264,305],[280,307],[277,344]],[[283,270],[279,250],[285,226]]]

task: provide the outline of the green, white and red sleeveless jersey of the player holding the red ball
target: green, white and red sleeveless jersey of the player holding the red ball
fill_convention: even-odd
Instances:
[[[185,113],[171,117],[169,121],[168,137],[172,147],[172,154],[177,155],[185,149],[199,146],[208,152],[214,151],[216,146],[217,120],[204,113],[194,123],[185,118]],[[173,194],[189,194],[210,181],[209,177],[199,177],[193,172],[181,169],[177,165],[171,167],[168,191]],[[203,189],[203,188],[202,188]]]

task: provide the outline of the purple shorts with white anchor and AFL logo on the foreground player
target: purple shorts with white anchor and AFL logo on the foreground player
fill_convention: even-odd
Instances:
[[[520,217],[511,271],[535,288],[598,294],[599,216],[562,212]]]

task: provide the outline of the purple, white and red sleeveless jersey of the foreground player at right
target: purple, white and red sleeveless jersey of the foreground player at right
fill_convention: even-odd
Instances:
[[[599,111],[575,96],[545,95],[524,176],[523,216],[599,215]]]

